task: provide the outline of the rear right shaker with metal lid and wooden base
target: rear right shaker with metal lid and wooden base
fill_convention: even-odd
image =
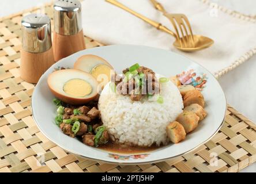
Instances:
[[[53,47],[56,61],[85,49],[79,1],[55,1]]]

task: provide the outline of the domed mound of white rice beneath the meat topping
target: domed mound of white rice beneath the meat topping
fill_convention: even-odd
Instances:
[[[167,144],[167,125],[182,113],[183,101],[178,88],[172,83],[161,84],[163,104],[149,101],[131,101],[129,96],[114,94],[106,85],[99,98],[101,120],[108,132],[119,143],[150,146]]]

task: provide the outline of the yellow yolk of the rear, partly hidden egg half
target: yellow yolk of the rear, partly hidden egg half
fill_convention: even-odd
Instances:
[[[106,83],[108,83],[110,81],[110,72],[111,68],[108,67],[106,64],[99,64],[92,69],[91,74],[97,81],[107,79]],[[100,79],[97,79],[98,76],[101,74],[104,74],[105,76],[101,76]]]

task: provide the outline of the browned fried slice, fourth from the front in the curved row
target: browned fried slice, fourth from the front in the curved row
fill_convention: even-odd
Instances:
[[[185,97],[183,98],[184,106],[189,106],[191,104],[198,104],[204,108],[205,100],[202,93],[198,90],[191,90],[186,93]]]

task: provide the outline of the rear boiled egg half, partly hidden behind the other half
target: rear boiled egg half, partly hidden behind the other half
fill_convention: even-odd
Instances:
[[[100,85],[105,86],[111,79],[113,67],[106,60],[95,55],[84,55],[77,59],[74,68],[91,74]]]

